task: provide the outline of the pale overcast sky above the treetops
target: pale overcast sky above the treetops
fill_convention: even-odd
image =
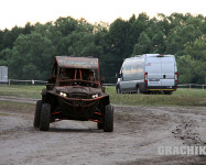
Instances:
[[[206,0],[0,0],[0,29],[24,26],[26,22],[45,23],[59,16],[111,23],[141,12],[150,18],[173,12],[206,16]]]

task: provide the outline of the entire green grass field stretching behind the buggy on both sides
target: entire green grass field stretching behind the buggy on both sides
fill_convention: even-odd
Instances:
[[[41,98],[45,86],[0,86],[1,96]],[[206,106],[206,89],[177,89],[173,95],[117,95],[115,87],[106,87],[111,103],[129,106]]]

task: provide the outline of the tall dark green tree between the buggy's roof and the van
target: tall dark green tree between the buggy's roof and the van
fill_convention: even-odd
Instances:
[[[101,56],[105,76],[108,82],[115,82],[115,73],[119,72],[123,58],[128,57],[132,50],[129,45],[129,23],[117,19],[110,24],[106,36],[105,54]]]

